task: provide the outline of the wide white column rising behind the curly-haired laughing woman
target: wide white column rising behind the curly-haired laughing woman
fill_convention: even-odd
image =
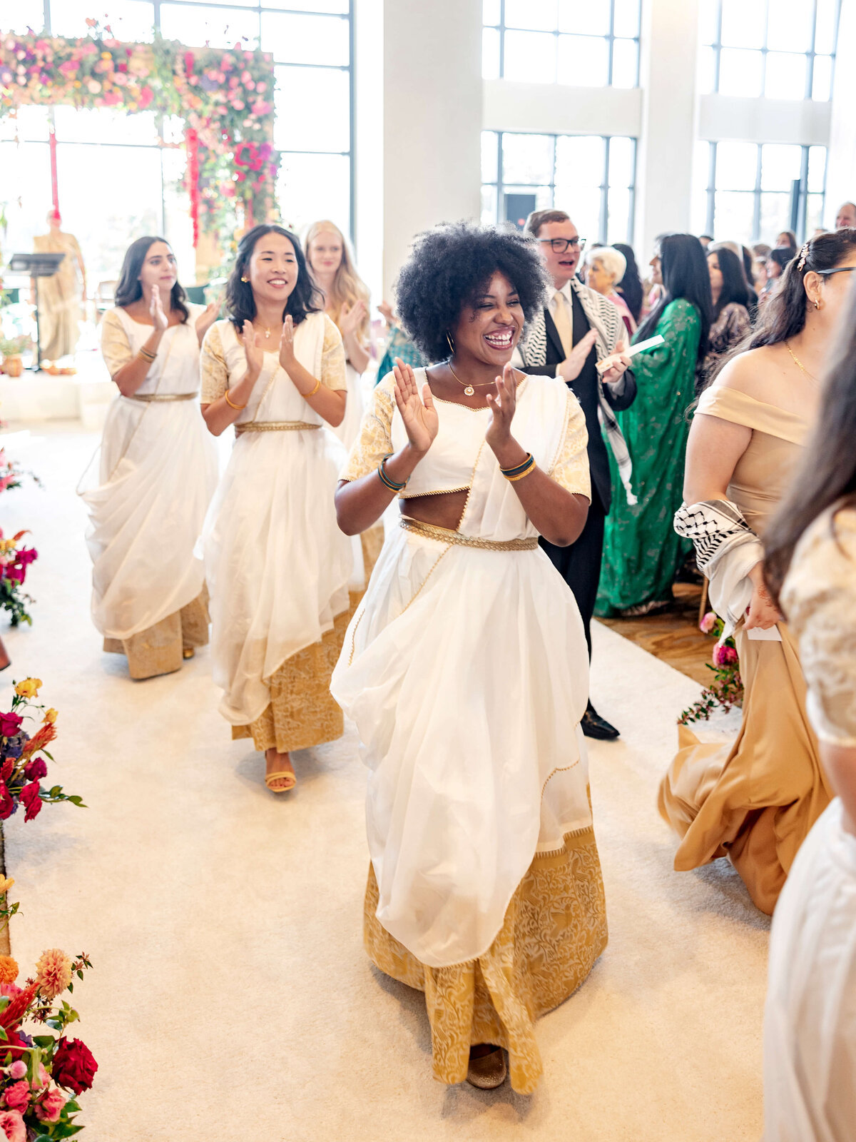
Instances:
[[[382,66],[389,297],[414,234],[481,212],[481,0],[383,0]]]

